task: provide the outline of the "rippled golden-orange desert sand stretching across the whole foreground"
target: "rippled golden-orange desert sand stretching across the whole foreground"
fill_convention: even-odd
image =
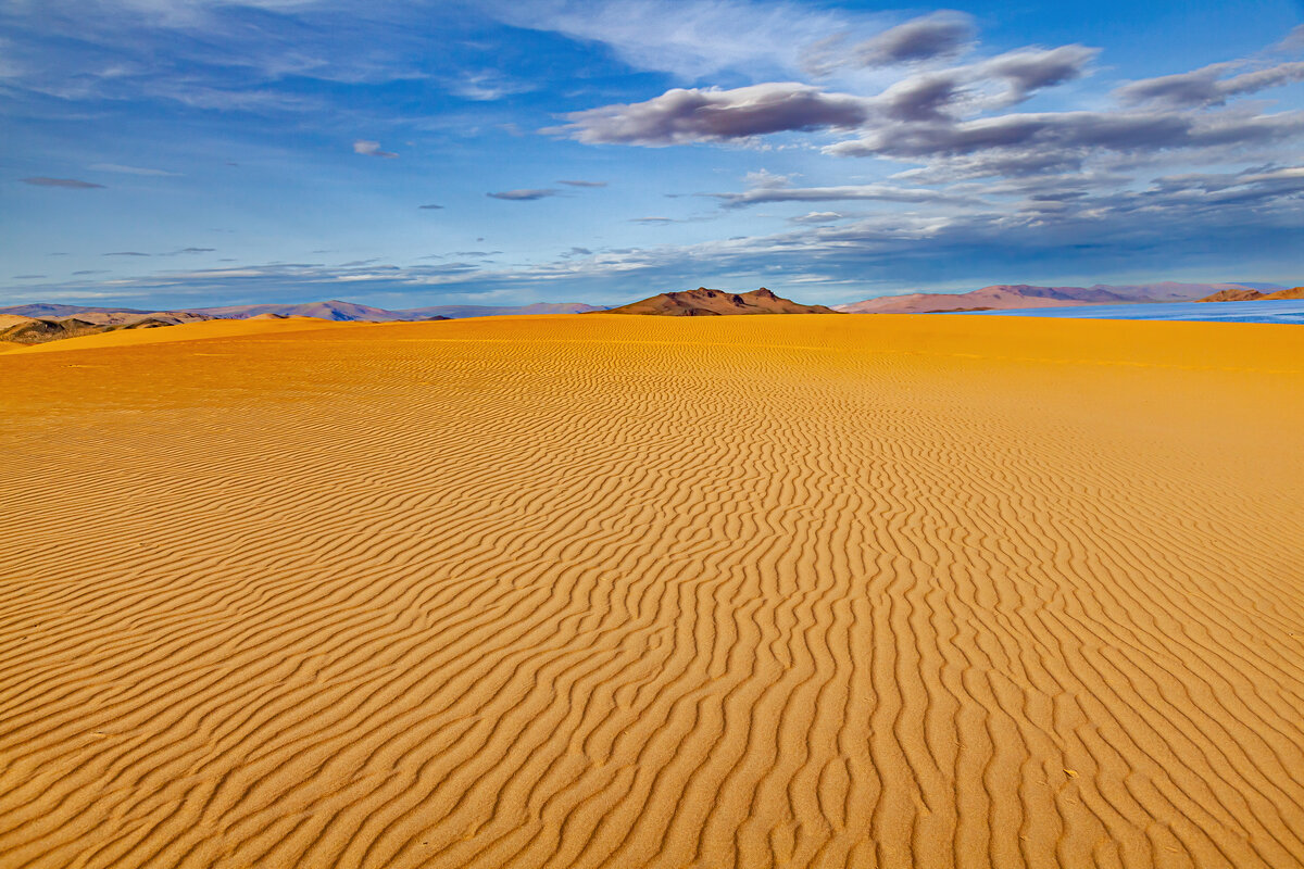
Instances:
[[[0,356],[0,866],[1304,864],[1297,327],[284,323]]]

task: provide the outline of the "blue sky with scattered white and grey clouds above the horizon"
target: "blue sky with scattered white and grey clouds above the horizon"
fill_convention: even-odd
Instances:
[[[1296,0],[9,0],[0,305],[1294,285],[1301,22]]]

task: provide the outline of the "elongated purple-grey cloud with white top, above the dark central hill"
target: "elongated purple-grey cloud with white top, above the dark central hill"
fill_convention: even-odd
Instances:
[[[853,129],[868,120],[862,96],[827,94],[797,82],[733,90],[669,90],[644,103],[619,103],[567,115],[562,133],[580,142],[665,146],[724,142],[788,130]]]

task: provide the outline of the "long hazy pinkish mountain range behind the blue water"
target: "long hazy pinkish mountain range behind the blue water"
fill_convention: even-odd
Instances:
[[[928,314],[965,310],[1020,307],[1068,307],[1072,305],[1121,305],[1128,302],[1189,302],[1219,291],[1244,292],[1240,284],[1131,284],[1111,287],[1034,287],[998,284],[968,293],[905,293],[882,296],[833,307],[849,314]]]

